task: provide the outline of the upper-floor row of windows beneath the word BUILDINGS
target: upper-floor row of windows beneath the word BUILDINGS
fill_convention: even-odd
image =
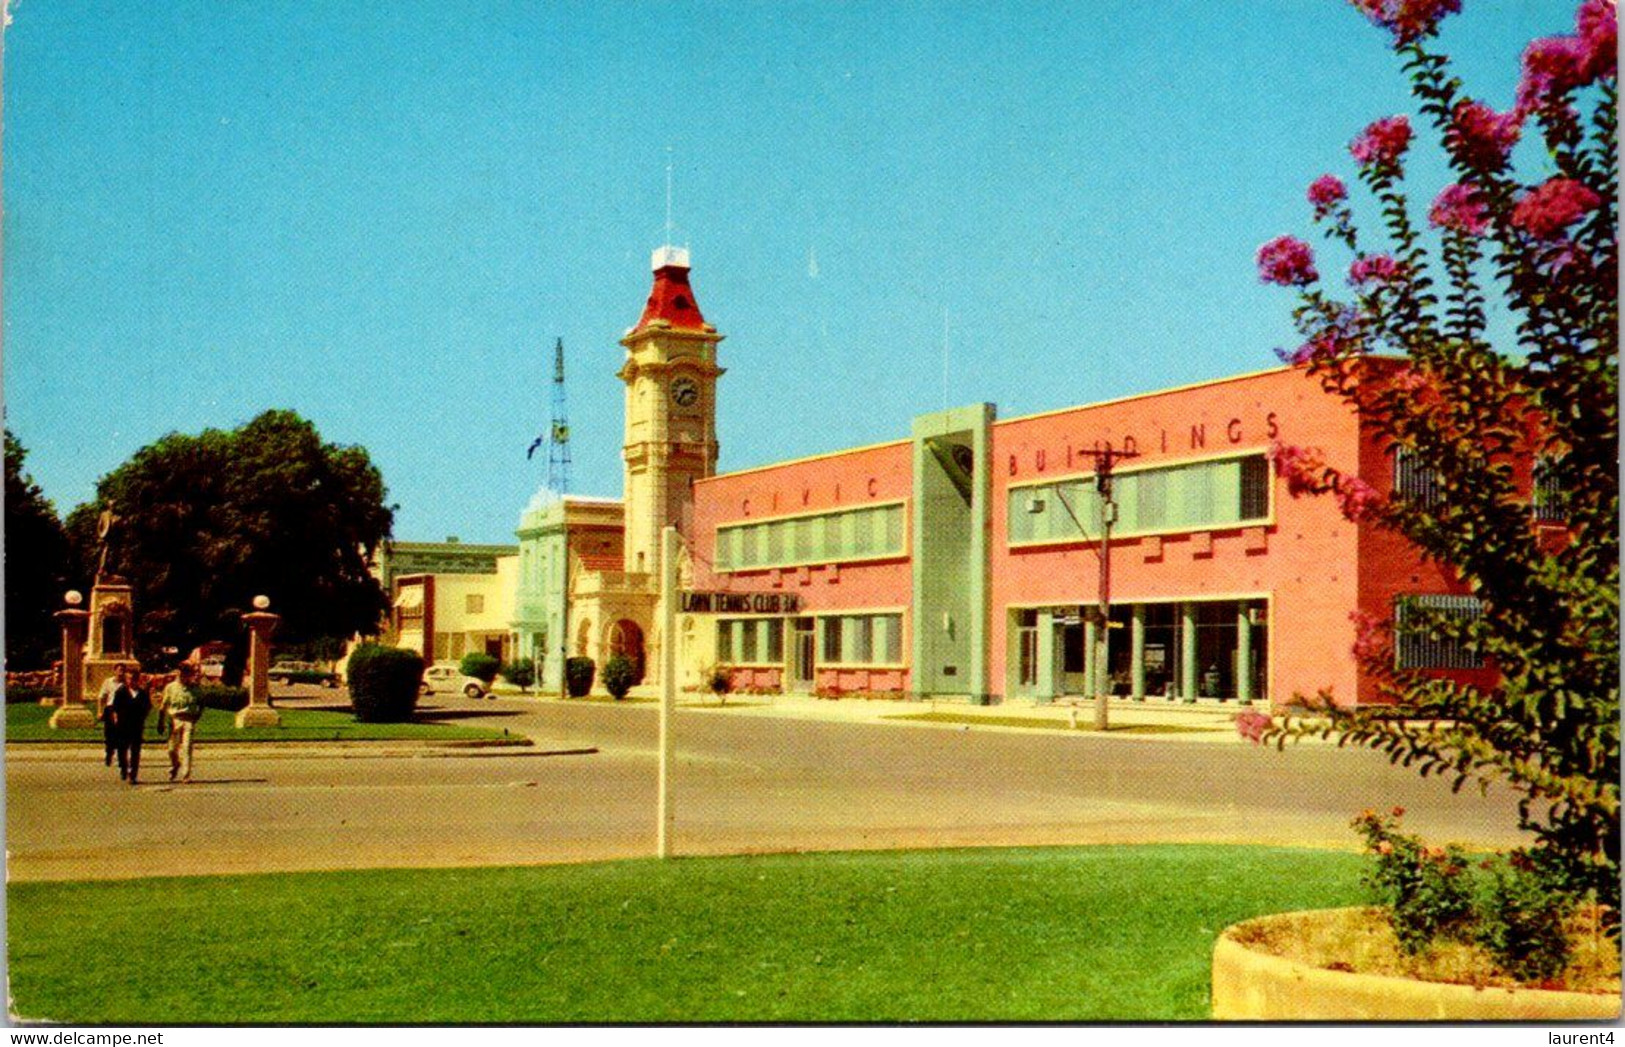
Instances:
[[[1118,473],[1112,494],[1120,535],[1233,527],[1269,517],[1269,463],[1259,454]],[[1097,538],[1103,530],[1094,476],[1012,488],[1008,509],[1012,545]]]

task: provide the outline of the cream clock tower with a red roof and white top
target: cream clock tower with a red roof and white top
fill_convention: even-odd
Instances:
[[[621,345],[626,363],[626,571],[660,579],[660,532],[684,538],[692,483],[717,471],[717,343],[689,286],[686,247],[658,247],[655,286]]]

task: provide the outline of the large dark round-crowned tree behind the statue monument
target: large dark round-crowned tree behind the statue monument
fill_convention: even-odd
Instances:
[[[367,561],[395,519],[361,447],[322,442],[292,411],[232,429],[171,432],[101,478],[70,515],[81,577],[94,520],[117,517],[109,571],[135,587],[136,649],[180,652],[211,639],[245,645],[240,615],[266,595],[289,644],[377,629],[388,602]]]

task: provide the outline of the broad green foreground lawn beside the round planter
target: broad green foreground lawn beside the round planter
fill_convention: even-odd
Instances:
[[[70,1024],[1207,1018],[1220,928],[1362,858],[1146,845],[8,884]]]

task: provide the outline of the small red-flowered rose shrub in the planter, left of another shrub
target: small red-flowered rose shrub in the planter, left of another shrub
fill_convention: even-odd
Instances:
[[[1472,881],[1459,847],[1424,847],[1399,832],[1404,808],[1391,815],[1365,811],[1354,828],[1376,855],[1365,883],[1384,906],[1399,948],[1415,954],[1435,938],[1462,940],[1472,920]]]

